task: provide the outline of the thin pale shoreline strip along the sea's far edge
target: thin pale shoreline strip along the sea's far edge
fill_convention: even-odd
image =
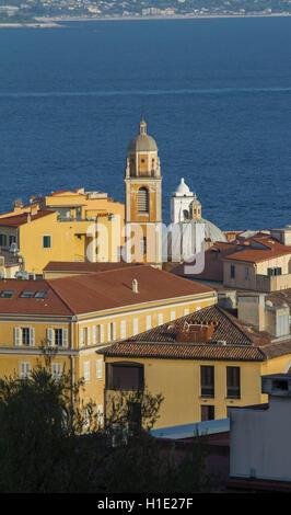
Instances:
[[[33,27],[33,28],[54,28],[65,27],[61,23],[67,22],[104,22],[104,21],[135,21],[135,20],[208,20],[208,19],[244,19],[244,18],[287,18],[291,13],[257,13],[257,14],[173,14],[173,15],[150,15],[150,16],[95,16],[95,18],[77,18],[77,16],[61,16],[61,18],[37,18],[36,21],[30,23],[0,23],[0,28],[18,28],[18,27]]]

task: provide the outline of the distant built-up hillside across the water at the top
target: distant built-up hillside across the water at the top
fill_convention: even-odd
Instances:
[[[291,0],[0,0],[0,22],[39,18],[291,14]]]

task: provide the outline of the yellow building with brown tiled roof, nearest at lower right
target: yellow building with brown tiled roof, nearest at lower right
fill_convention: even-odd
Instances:
[[[251,304],[253,314],[267,317],[256,298],[244,302],[245,318]],[[216,305],[100,350],[106,404],[116,390],[146,386],[164,397],[154,428],[171,430],[225,419],[233,407],[266,402],[260,377],[288,370],[291,359],[289,308],[267,309],[272,311],[269,332],[256,329],[254,316],[253,324],[240,322]],[[280,317],[288,322],[284,329]]]

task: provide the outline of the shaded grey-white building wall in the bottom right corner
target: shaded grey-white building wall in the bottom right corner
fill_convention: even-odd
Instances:
[[[269,403],[233,408],[230,422],[230,478],[291,481],[291,375],[261,377]]]

